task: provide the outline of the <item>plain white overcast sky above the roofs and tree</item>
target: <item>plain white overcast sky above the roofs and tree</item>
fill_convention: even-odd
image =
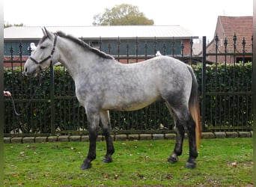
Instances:
[[[88,26],[94,15],[123,3],[137,6],[154,25],[180,25],[207,40],[218,16],[253,16],[253,0],[4,0],[4,23]]]

